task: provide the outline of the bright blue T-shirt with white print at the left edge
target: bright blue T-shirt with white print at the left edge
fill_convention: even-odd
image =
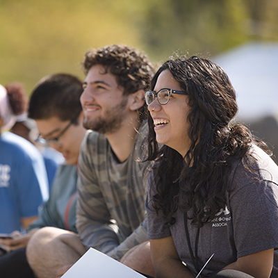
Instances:
[[[21,218],[38,215],[49,197],[42,154],[10,132],[0,136],[0,233],[22,231]]]

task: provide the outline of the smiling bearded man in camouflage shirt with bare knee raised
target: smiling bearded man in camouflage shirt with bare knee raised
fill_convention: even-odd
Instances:
[[[79,236],[44,228],[32,237],[28,262],[39,278],[60,277],[89,247],[121,261],[133,247],[147,243],[149,162],[141,161],[147,154],[144,93],[153,66],[138,50],[113,44],[88,51],[83,68],[83,126],[89,131],[79,155]],[[154,275],[147,267],[149,252],[134,261],[134,269]]]

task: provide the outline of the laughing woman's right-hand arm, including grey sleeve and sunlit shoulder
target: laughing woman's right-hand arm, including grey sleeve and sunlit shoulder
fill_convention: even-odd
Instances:
[[[260,154],[262,157],[264,155]],[[256,161],[258,164],[252,165],[256,170],[263,169],[265,165],[269,168],[258,170],[259,174],[254,175],[252,172],[247,172],[251,175],[251,179],[247,179],[245,167],[238,166],[233,179],[236,190],[230,195],[238,259],[224,269],[240,270],[256,278],[270,277],[274,248],[278,246],[278,189],[275,182],[277,166],[275,165],[272,170],[270,166],[273,161],[271,158],[268,160],[264,164],[259,164],[259,160]],[[243,218],[243,215],[248,217]]]

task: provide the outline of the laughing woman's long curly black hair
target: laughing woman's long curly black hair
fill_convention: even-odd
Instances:
[[[154,122],[148,113],[147,160],[156,160],[157,193],[152,206],[163,211],[170,224],[174,223],[172,215],[177,208],[183,212],[192,209],[193,224],[202,227],[226,204],[224,193],[231,190],[227,179],[232,163],[243,158],[252,143],[265,151],[268,147],[254,138],[247,127],[231,124],[238,111],[236,92],[220,66],[196,56],[167,60],[154,75],[152,90],[163,70],[170,70],[188,93],[191,144],[185,157],[166,145],[159,149]]]

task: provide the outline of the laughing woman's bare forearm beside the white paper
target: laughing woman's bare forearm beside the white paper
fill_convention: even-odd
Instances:
[[[172,236],[149,241],[156,278],[195,278],[179,259]]]

